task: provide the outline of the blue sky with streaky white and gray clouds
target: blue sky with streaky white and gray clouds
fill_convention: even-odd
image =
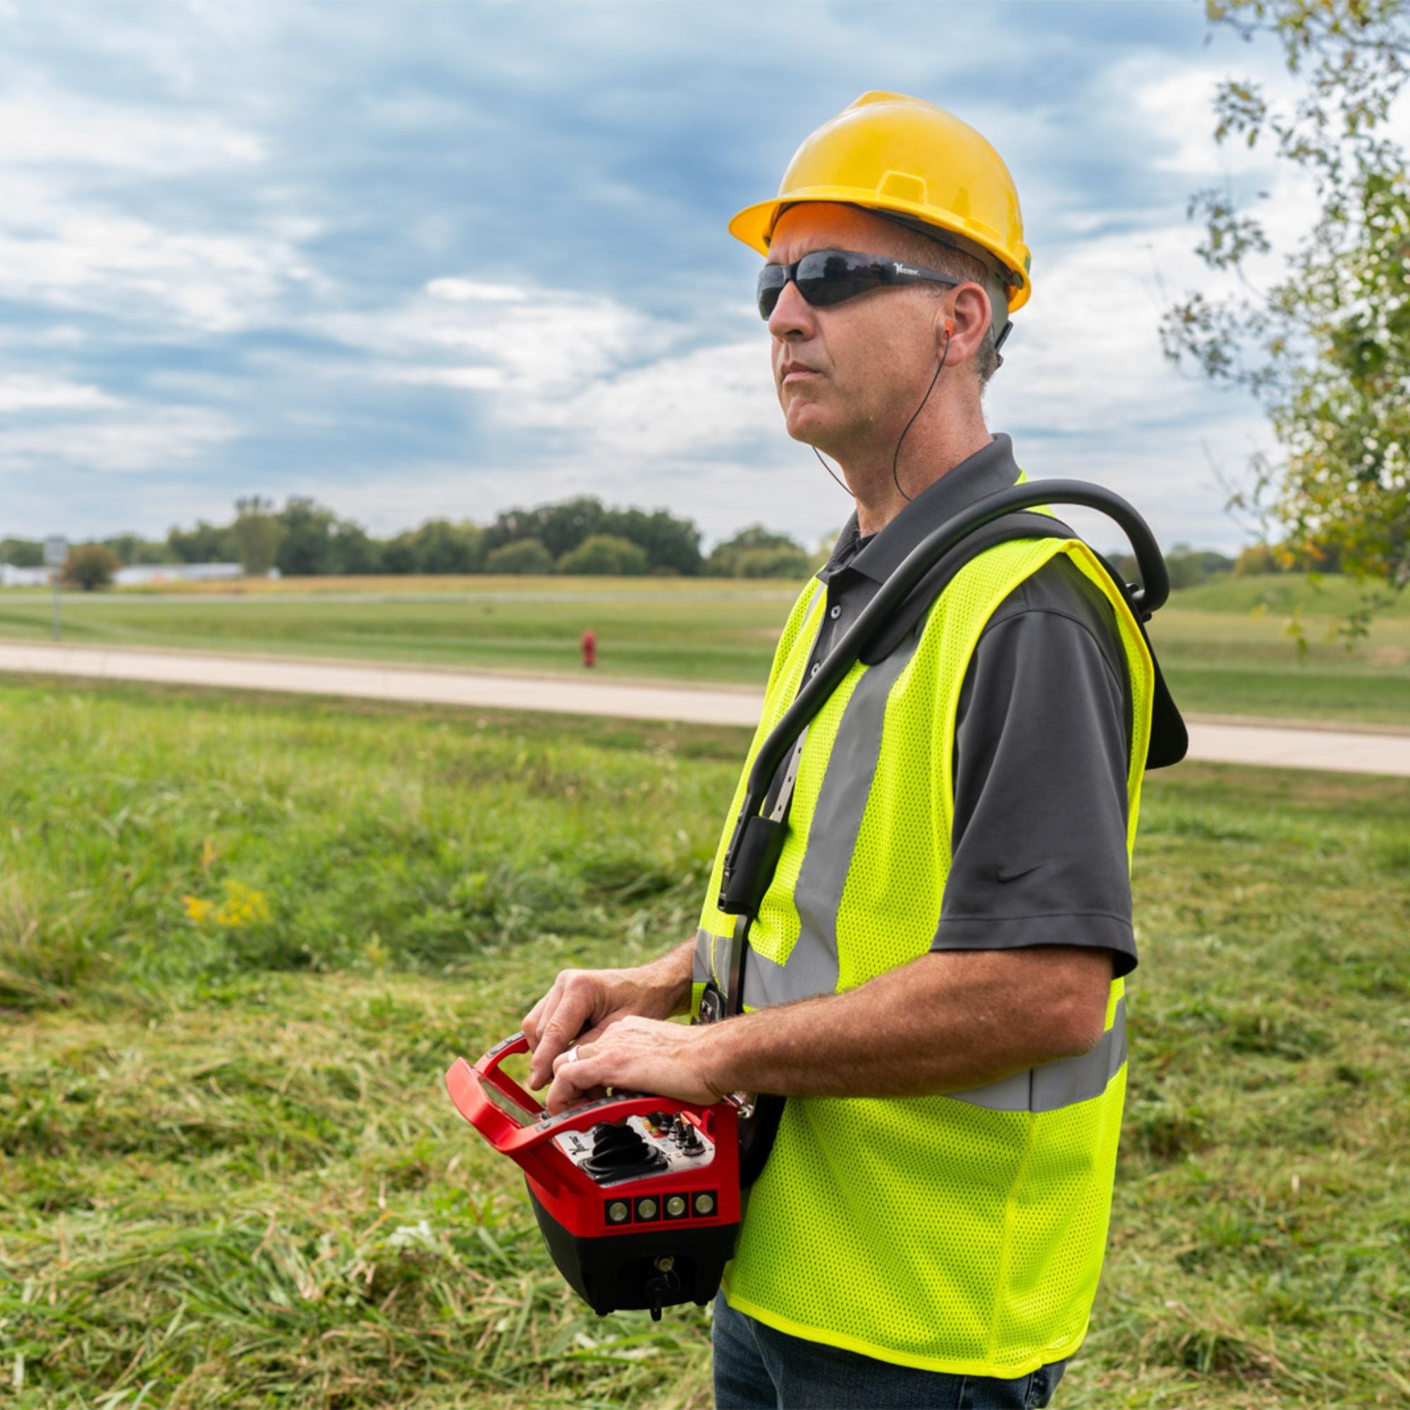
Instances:
[[[1214,83],[1276,52],[1206,41],[1198,0],[0,0],[0,536],[595,494],[812,541],[850,505],[781,430],[725,223],[888,87],[1018,182],[1034,296],[990,429],[1237,546],[1211,461],[1268,433],[1156,329],[1208,285],[1191,190],[1303,207],[1210,137]]]

